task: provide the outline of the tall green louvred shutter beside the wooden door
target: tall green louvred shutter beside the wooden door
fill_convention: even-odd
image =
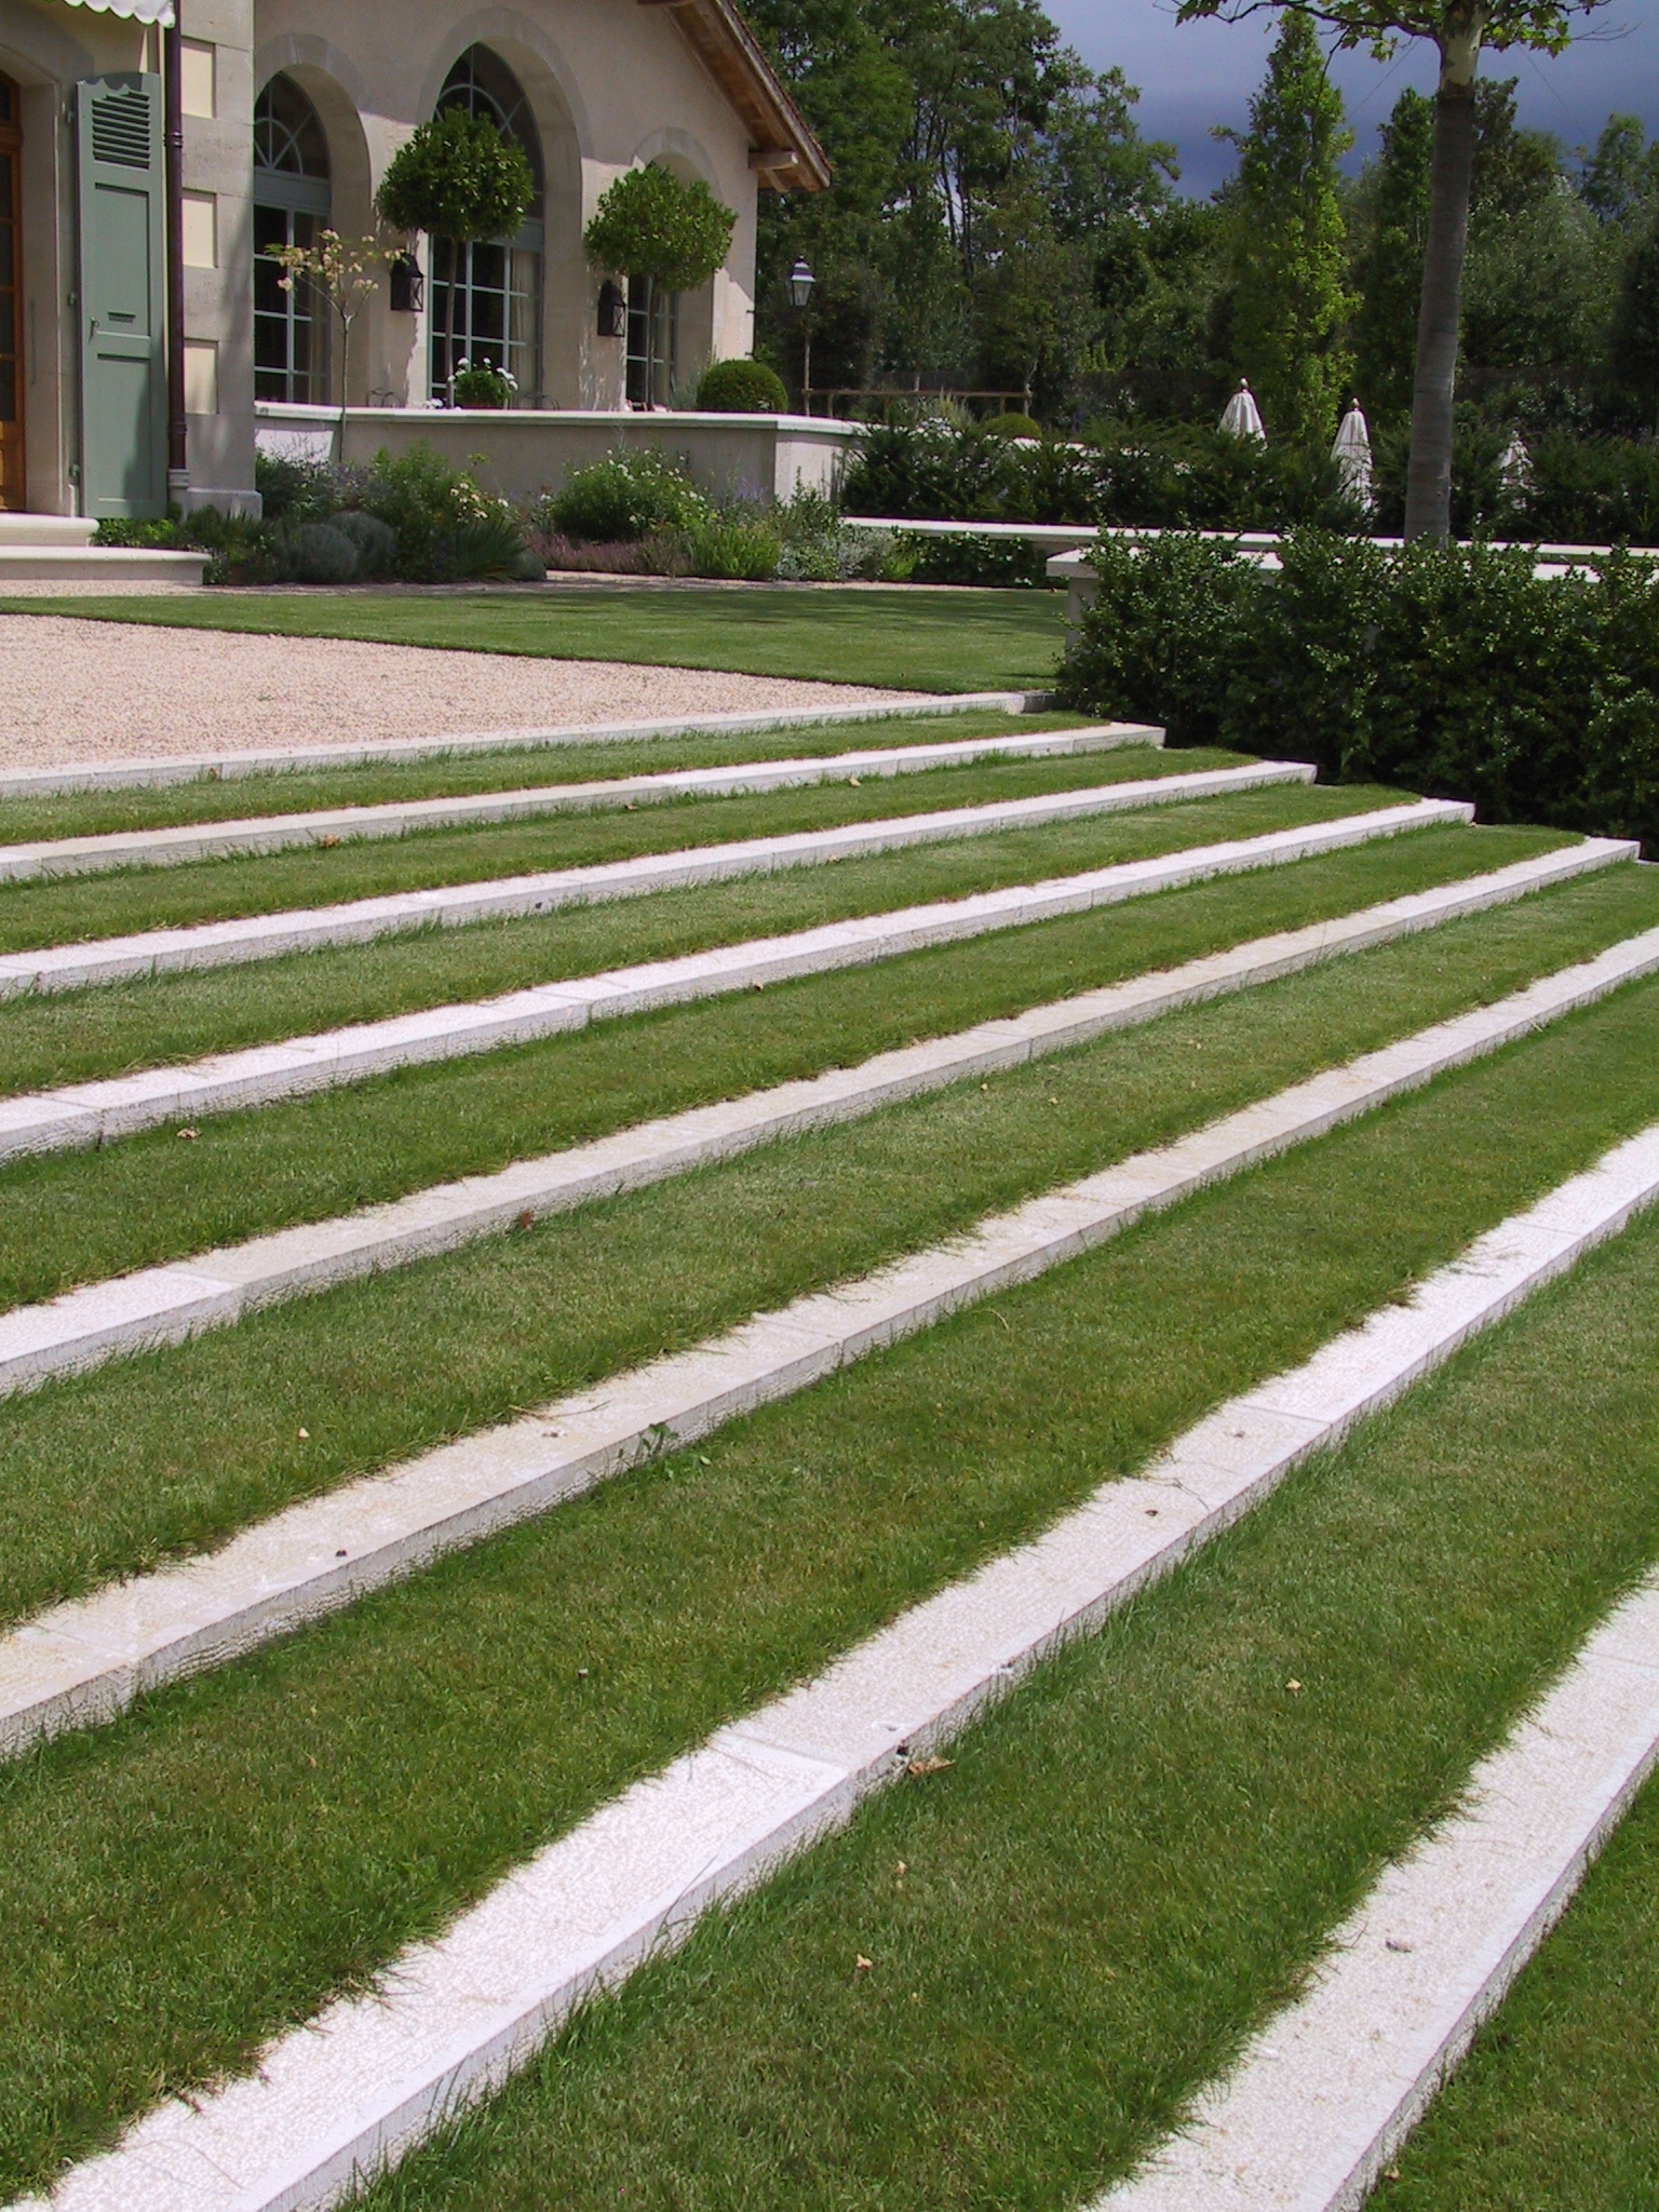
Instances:
[[[166,166],[161,80],[75,86],[82,500],[166,513]]]

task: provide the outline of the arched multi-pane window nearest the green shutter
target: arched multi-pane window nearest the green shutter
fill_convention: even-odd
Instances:
[[[254,106],[254,398],[327,400],[327,303],[283,272],[270,246],[314,246],[330,212],[327,139],[292,77]]]

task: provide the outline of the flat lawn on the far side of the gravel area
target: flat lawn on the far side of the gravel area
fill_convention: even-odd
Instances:
[[[403,597],[352,591],[201,599],[0,599],[7,615],[159,628],[365,637],[387,646],[533,653],[812,677],[894,690],[1042,690],[1064,646],[1057,591],[546,591]]]

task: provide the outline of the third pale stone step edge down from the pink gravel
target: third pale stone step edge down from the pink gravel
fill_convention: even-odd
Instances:
[[[166,969],[274,960],[283,953],[316,951],[321,945],[365,945],[372,938],[425,929],[434,922],[453,929],[460,922],[553,914],[560,907],[648,898],[657,891],[728,883],[734,876],[825,867],[869,854],[902,852],[909,845],[1040,830],[1097,814],[1126,814],[1139,807],[1181,805],[1197,799],[1221,799],[1230,792],[1312,781],[1314,770],[1303,761],[1252,761],[1243,768],[1106,783],[1084,792],[1042,792],[1035,799],[1000,799],[936,814],[847,823],[838,830],[732,838],[723,845],[637,854],[628,860],[555,867],[535,876],[487,876],[478,883],[392,891],[336,907],[250,914],[228,922],[153,929],[128,938],[93,938],[86,945],[46,945],[35,951],[0,953],[0,998],[15,998],[24,991],[82,989],[88,982],[124,982],[137,975],[159,975]]]

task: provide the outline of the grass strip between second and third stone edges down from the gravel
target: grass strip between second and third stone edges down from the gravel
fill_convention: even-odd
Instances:
[[[635,810],[555,812],[471,827],[458,823],[396,838],[345,838],[338,845],[312,843],[270,854],[230,854],[177,867],[115,867],[91,878],[75,874],[27,878],[0,885],[0,953],[29,953],[133,931],[254,920],[411,891],[484,887],[509,876],[615,869],[626,860],[641,865],[657,860],[666,867],[677,854],[686,854],[686,865],[692,865],[723,845],[754,845],[761,867],[763,841],[785,836],[843,832],[856,841],[856,832],[863,830],[880,841],[872,849],[898,852],[905,841],[938,843],[995,834],[998,816],[987,810],[1018,807],[1020,801],[1031,801],[1035,812],[1029,807],[1026,816],[1011,814],[1009,825],[1022,818],[1064,821],[1066,799],[1077,801],[1082,816],[1139,805],[1139,799],[1117,790],[1121,785],[1170,781],[1175,790],[1159,803],[1177,805],[1183,796],[1179,779],[1248,765],[1252,763],[1237,752],[1164,754],[1152,748],[1051,761],[980,761],[896,781],[836,781],[730,799],[666,799]],[[1312,781],[1305,763],[1279,765],[1294,768],[1298,779]],[[1256,779],[1241,779],[1243,787],[1252,781]],[[1088,792],[1106,796],[1091,805]],[[1194,796],[1194,787],[1188,785],[1186,796]],[[1044,812],[1042,801],[1060,812]],[[953,821],[958,814],[962,827],[931,823],[931,816]],[[142,832],[133,843],[166,834]],[[122,838],[108,847],[95,838],[77,843],[115,852]],[[825,858],[830,852],[834,845],[825,847]],[[810,865],[814,847],[803,845],[803,860],[790,865]],[[597,880],[604,883],[602,876]],[[626,883],[626,876],[619,880]]]

